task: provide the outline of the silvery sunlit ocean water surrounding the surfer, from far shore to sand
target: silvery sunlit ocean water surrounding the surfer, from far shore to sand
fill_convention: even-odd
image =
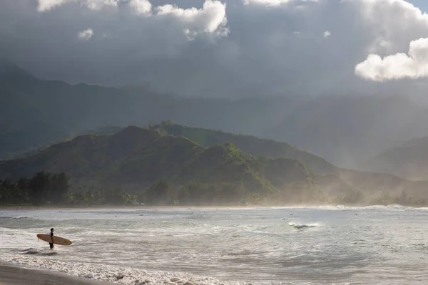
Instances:
[[[117,284],[428,284],[427,257],[428,208],[0,209],[0,261]]]

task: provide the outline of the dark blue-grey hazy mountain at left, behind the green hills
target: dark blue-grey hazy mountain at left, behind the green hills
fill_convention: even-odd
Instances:
[[[106,125],[148,125],[174,120],[183,125],[253,133],[279,120],[302,101],[178,98],[145,88],[106,88],[43,81],[10,61],[0,61],[0,159]],[[257,133],[257,132],[256,132]]]

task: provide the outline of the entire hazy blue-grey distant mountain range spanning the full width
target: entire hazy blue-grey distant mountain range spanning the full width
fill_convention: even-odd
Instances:
[[[123,128],[173,120],[287,141],[335,165],[367,170],[367,161],[382,151],[428,135],[428,110],[408,95],[180,98],[146,88],[43,81],[5,60],[0,61],[0,94],[0,159],[31,154],[107,125]],[[302,152],[295,155],[315,169],[297,157]]]

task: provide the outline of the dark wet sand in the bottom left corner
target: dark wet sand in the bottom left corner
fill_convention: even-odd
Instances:
[[[0,264],[0,285],[111,285],[54,271],[21,269]]]

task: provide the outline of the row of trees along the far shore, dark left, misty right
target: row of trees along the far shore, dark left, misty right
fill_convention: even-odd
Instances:
[[[186,182],[177,185],[168,180],[155,182],[148,190],[136,195],[120,187],[105,190],[87,190],[81,187],[70,191],[70,178],[64,173],[37,172],[32,177],[22,177],[16,182],[0,179],[0,204],[39,205],[225,205],[225,204],[403,204],[427,205],[426,199],[412,197],[408,190],[399,195],[384,194],[367,197],[358,190],[344,191],[340,195],[325,195],[317,187],[306,189],[294,185],[282,191],[265,195],[248,192],[243,183]]]

